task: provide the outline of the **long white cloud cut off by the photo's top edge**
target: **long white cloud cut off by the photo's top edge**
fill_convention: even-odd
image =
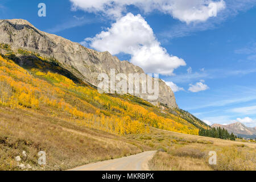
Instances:
[[[81,9],[90,13],[104,13],[118,18],[126,12],[126,7],[133,5],[143,13],[158,10],[182,22],[204,22],[210,18],[209,12],[218,13],[226,7],[225,1],[212,0],[70,0],[73,9]]]

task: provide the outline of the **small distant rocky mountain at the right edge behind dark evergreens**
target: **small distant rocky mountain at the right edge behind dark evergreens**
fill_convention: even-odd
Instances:
[[[212,127],[221,127],[228,130],[229,133],[233,133],[240,137],[255,138],[256,127],[246,127],[240,122],[232,123],[229,125],[213,124]]]

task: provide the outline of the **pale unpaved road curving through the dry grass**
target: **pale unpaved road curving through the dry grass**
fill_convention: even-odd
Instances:
[[[70,169],[71,171],[148,171],[148,160],[156,151],[147,151],[124,158],[105,160]]]

